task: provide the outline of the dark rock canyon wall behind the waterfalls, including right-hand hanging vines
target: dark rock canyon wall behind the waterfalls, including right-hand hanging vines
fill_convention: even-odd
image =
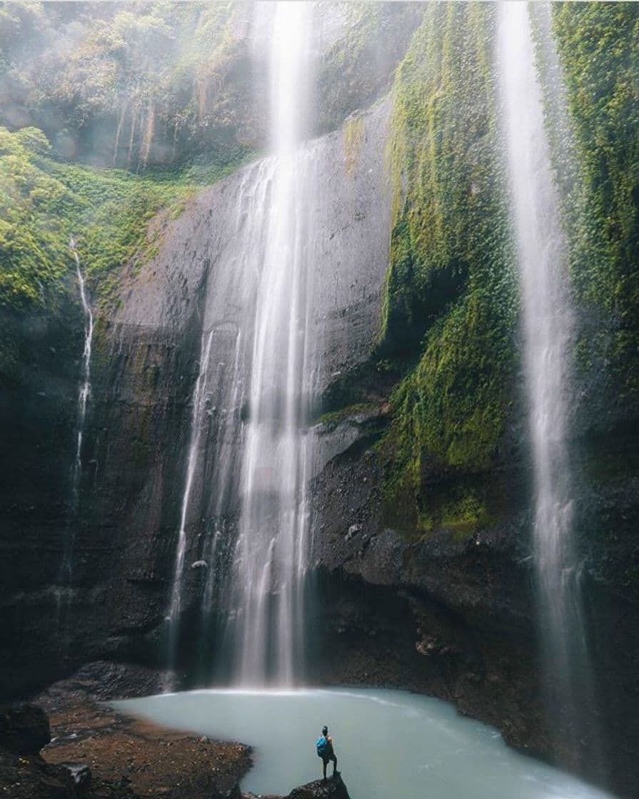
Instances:
[[[531,473],[492,13],[489,4],[429,5],[390,97],[309,145],[318,403],[308,678],[436,694],[497,725],[513,745],[573,765],[553,749],[538,684]],[[602,50],[589,26],[617,48]],[[639,734],[639,193],[625,86],[633,85],[636,26],[632,4],[558,4],[570,141],[547,98],[555,152],[573,148],[581,175],[563,189],[573,209],[565,224],[578,323],[573,501],[601,708],[584,747],[596,747],[598,727],[609,774],[590,776],[628,795]],[[341,61],[327,63],[337,70]],[[389,69],[357,88],[365,66],[353,66],[335,94],[327,79],[318,127],[372,101]],[[593,97],[581,90],[584,76],[597,84]],[[215,391],[187,529],[178,663],[191,680],[210,678],[214,629],[206,651],[199,643],[207,573],[191,564],[221,521],[230,539],[237,519],[237,495],[221,497],[216,487],[221,456],[237,444],[238,426],[225,420],[246,413],[230,403],[230,366],[256,290],[242,242],[262,168],[246,165],[165,209],[151,222],[152,246],[115,273],[113,296],[97,314],[77,507],[70,469],[82,314],[74,284],[62,281],[62,298],[44,311],[2,304],[6,698],[93,661],[166,666],[191,403],[202,340],[212,335]],[[61,586],[69,535],[74,569]]]

